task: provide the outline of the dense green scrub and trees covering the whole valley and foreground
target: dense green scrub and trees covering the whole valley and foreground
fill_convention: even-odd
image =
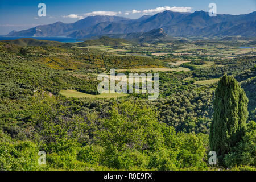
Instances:
[[[133,49],[141,54],[165,53],[193,43],[114,48],[128,53],[134,53]],[[174,65],[177,60],[191,63]],[[255,56],[247,54],[233,59],[209,58],[193,51],[191,56],[134,56],[70,43],[23,47],[0,43],[0,169],[255,170],[255,62]],[[59,93],[73,89],[98,94],[97,75],[109,73],[110,68],[180,67],[191,69],[146,72],[159,73],[158,100],[147,100],[143,94],[92,99],[66,98]],[[224,73],[238,81],[230,78],[230,90],[236,92],[229,92],[234,101],[227,98],[230,104],[222,102],[217,107],[229,84],[223,82],[226,76],[218,85],[210,78]],[[241,109],[230,111],[226,118],[236,117],[246,125],[245,130],[223,153],[222,162],[211,166],[210,125],[220,127],[216,112],[231,105]],[[242,117],[247,115],[246,109],[248,119]],[[38,164],[42,150],[47,154],[46,166]]]

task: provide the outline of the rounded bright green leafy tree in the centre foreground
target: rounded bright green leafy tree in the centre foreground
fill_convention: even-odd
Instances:
[[[131,102],[113,106],[109,117],[103,119],[98,136],[102,146],[117,151],[127,148],[156,150],[162,139],[155,111]]]

